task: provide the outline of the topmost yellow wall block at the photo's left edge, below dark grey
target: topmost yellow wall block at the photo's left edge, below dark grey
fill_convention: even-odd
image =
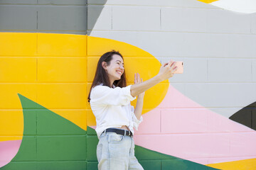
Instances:
[[[36,33],[0,33],[0,56],[34,56],[36,38]]]

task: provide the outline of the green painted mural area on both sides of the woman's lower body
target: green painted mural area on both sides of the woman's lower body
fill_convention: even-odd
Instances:
[[[24,136],[21,147],[14,159],[6,166],[1,167],[1,170],[97,169],[95,149],[98,140],[95,130],[87,127],[87,132],[90,133],[87,136],[85,130],[69,120],[21,94],[18,94],[18,97],[23,107]],[[31,130],[35,127],[35,120],[38,123],[36,131]],[[36,135],[27,135],[35,132]],[[135,154],[146,170],[213,170],[209,166],[161,154],[139,146],[135,147]]]

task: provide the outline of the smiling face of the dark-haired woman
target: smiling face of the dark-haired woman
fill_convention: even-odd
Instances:
[[[115,80],[121,79],[124,73],[124,61],[119,55],[112,55],[110,64],[106,67],[107,74],[110,78],[110,83],[113,84]]]

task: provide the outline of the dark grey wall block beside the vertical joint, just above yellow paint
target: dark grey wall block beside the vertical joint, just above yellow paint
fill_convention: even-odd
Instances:
[[[87,30],[87,6],[42,6],[38,30]]]

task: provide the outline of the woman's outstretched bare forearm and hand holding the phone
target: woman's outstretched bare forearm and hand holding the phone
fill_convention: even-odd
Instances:
[[[155,86],[156,84],[159,84],[161,81],[173,77],[175,71],[176,62],[170,61],[168,63],[163,64],[159,70],[159,74],[157,74],[155,77],[143,81],[142,83],[132,85],[130,89],[131,95],[135,97],[139,94],[142,94],[144,91],[151,88],[152,86]]]

